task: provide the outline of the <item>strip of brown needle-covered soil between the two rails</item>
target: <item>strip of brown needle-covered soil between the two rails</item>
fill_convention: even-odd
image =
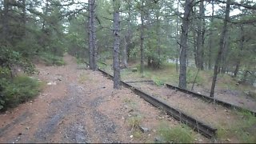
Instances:
[[[234,110],[227,110],[223,106],[202,101],[190,96],[190,94],[170,90],[165,86],[156,86],[150,82],[130,84],[142,91],[146,91],[147,94],[165,100],[170,106],[215,128],[228,130],[230,127],[235,126],[236,123],[242,122],[242,116]],[[250,134],[254,134],[254,132]],[[235,137],[228,139],[230,142],[239,142]]]

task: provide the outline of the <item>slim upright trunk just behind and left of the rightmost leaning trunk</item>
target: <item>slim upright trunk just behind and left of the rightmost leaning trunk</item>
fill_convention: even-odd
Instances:
[[[211,7],[212,7],[212,11],[211,11],[211,18],[210,18],[210,23],[212,24],[214,22],[214,0],[212,0],[211,2]],[[212,53],[212,49],[213,49],[213,28],[212,26],[210,26],[210,38],[209,38],[209,54],[208,54],[208,69],[211,69],[211,53]]]

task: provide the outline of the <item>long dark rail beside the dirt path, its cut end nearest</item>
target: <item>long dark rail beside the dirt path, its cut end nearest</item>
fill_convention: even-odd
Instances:
[[[113,76],[111,74],[106,73],[104,70],[98,69],[102,74],[105,76],[113,79]],[[122,82],[122,81],[121,81]],[[193,130],[198,131],[198,133],[206,136],[206,138],[215,138],[217,129],[206,125],[205,123],[197,120],[196,118],[193,118],[181,110],[177,110],[174,107],[169,106],[166,102],[163,102],[159,98],[155,98],[154,96],[151,96],[150,94],[146,94],[142,90],[138,90],[134,86],[130,86],[127,82],[122,82],[122,86],[125,86],[127,88],[130,88],[130,90],[133,90],[135,94],[138,94],[141,98],[146,100],[147,102],[150,102],[155,107],[158,107],[164,111],[166,111],[167,114],[174,117],[178,121],[181,121],[185,123],[186,125],[190,126]]]

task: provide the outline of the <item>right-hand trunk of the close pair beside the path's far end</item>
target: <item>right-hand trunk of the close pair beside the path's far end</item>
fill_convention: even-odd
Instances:
[[[92,49],[93,49],[93,70],[97,70],[97,46],[96,46],[96,26],[95,26],[95,9],[96,0],[91,0],[91,34],[92,34]]]

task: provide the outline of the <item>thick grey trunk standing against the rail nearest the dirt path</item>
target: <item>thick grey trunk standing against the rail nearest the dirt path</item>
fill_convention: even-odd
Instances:
[[[114,3],[114,47],[113,47],[114,89],[121,89],[120,65],[119,65],[120,3],[117,0],[113,0],[113,3]]]

